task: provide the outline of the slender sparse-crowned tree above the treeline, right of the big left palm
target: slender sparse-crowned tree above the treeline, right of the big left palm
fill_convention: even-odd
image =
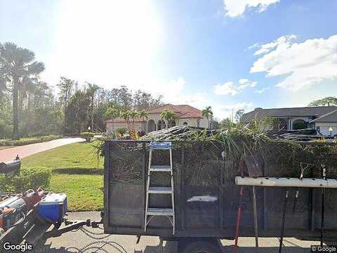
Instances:
[[[66,131],[67,128],[67,118],[68,118],[68,103],[70,98],[72,98],[72,94],[74,93],[75,86],[77,86],[77,82],[72,79],[67,79],[66,77],[61,77],[60,82],[57,84],[58,89],[60,89],[59,96],[60,102],[63,106],[64,113],[64,126],[63,131]]]

